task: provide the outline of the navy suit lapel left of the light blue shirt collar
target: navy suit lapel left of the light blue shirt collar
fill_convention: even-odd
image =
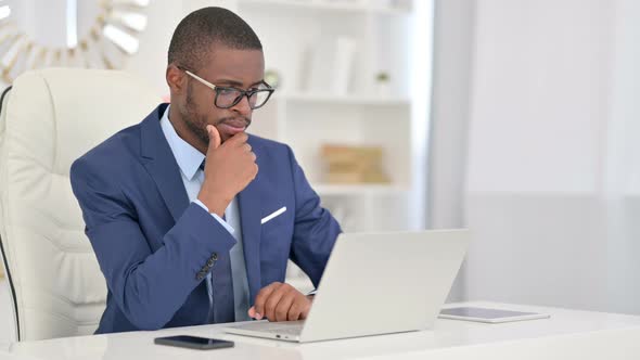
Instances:
[[[189,196],[176,157],[159,125],[166,108],[167,104],[159,105],[142,121],[141,154],[142,164],[155,181],[174,220],[178,221],[189,206]]]

